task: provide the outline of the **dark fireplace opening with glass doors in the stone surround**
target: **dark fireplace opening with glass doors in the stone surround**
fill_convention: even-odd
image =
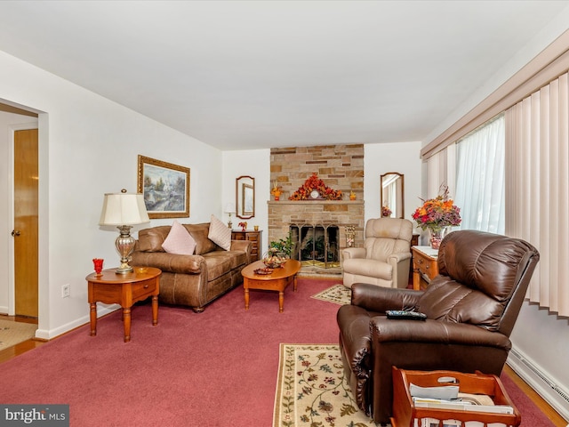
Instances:
[[[293,259],[302,266],[340,267],[340,234],[335,225],[291,225]]]

